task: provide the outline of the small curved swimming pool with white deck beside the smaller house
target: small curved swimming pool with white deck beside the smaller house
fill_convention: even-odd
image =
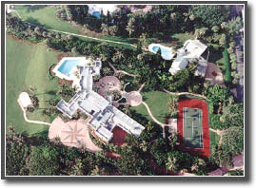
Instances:
[[[171,47],[164,47],[159,44],[151,44],[148,46],[149,51],[153,53],[157,53],[159,48],[161,49],[161,56],[165,60],[170,60],[175,55],[175,52],[172,50]]]

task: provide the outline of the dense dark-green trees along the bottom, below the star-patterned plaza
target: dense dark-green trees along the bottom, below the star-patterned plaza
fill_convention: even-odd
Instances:
[[[8,176],[95,176],[95,175],[174,175],[180,170],[206,175],[216,168],[209,160],[203,160],[178,151],[177,138],[156,136],[148,142],[148,134],[160,133],[151,122],[148,131],[139,139],[128,135],[127,146],[112,143],[101,144],[103,150],[96,154],[83,148],[67,147],[57,139],[47,137],[26,137],[16,134],[10,126],[7,136]],[[152,137],[155,136],[149,136]],[[121,158],[107,157],[113,152]],[[164,169],[164,170],[163,170]],[[166,170],[165,170],[166,169]]]

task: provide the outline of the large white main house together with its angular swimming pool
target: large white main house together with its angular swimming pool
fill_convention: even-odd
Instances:
[[[70,68],[69,65],[76,66]],[[72,75],[74,70],[71,69],[79,69],[79,79]],[[111,100],[105,99],[92,90],[92,76],[100,74],[100,69],[100,59],[92,61],[84,57],[63,58],[53,71],[60,78],[66,78],[67,80],[73,79],[74,83],[79,84],[79,86],[77,87],[78,91],[69,100],[69,103],[61,100],[56,105],[57,109],[68,116],[69,119],[72,118],[78,109],[85,112],[90,117],[90,127],[103,141],[108,142],[112,139],[112,130],[116,126],[119,126],[129,134],[139,137],[145,129],[144,126],[114,107],[111,104]],[[79,82],[76,80],[79,80]]]

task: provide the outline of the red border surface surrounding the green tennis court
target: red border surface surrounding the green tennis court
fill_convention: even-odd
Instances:
[[[184,146],[183,139],[183,108],[199,108],[203,111],[202,123],[203,123],[203,148],[187,148]],[[177,132],[179,135],[179,140],[181,142],[182,149],[188,151],[192,154],[199,156],[209,157],[209,130],[208,130],[208,109],[207,103],[201,99],[186,99],[178,103],[178,123],[177,123]]]

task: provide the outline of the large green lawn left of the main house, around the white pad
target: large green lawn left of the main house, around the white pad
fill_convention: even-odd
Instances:
[[[25,122],[17,99],[30,85],[36,88],[34,93],[39,99],[39,109],[28,118],[50,122],[42,111],[51,98],[46,92],[57,89],[57,79],[49,81],[48,69],[52,63],[57,63],[58,52],[47,51],[40,44],[31,46],[7,38],[6,54],[6,125],[11,124],[17,132],[29,135],[47,130],[46,125]]]

